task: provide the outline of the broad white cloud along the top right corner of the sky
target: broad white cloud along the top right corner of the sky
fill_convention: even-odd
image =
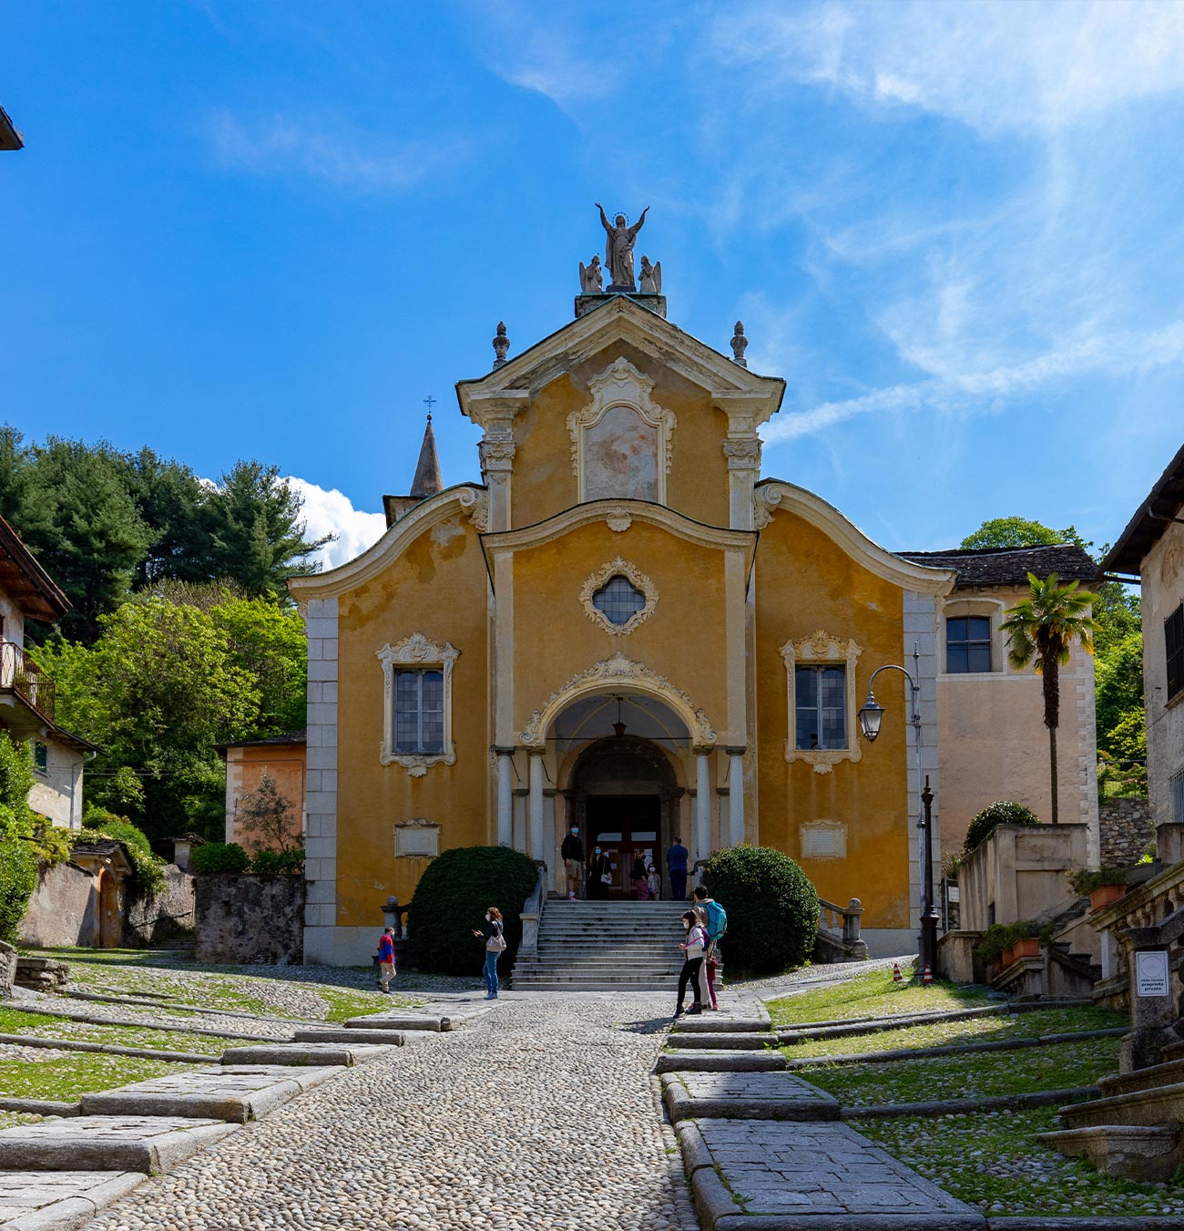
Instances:
[[[1184,87],[1177,0],[782,0],[729,9],[716,50],[762,74],[910,106],[983,132],[1050,132]],[[758,89],[761,74],[757,74]]]

